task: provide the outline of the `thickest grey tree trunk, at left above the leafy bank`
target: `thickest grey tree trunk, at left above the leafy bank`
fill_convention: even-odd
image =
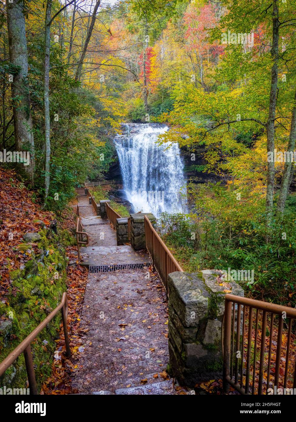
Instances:
[[[14,138],[16,151],[30,151],[30,164],[24,165],[27,177],[34,184],[35,148],[30,110],[28,82],[28,52],[23,1],[6,2],[9,58],[19,71],[11,83],[14,114]],[[14,100],[17,98],[17,100]]]

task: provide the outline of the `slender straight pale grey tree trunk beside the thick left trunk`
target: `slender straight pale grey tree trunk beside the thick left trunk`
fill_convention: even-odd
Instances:
[[[46,2],[45,12],[45,40],[44,40],[44,122],[45,122],[45,176],[44,176],[44,204],[49,191],[50,173],[50,116],[49,116],[49,55],[50,55],[50,20],[52,15],[52,0]]]

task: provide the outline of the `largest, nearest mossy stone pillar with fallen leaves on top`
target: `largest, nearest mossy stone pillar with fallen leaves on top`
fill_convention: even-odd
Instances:
[[[169,372],[187,387],[222,377],[221,323],[225,292],[243,296],[235,281],[217,279],[221,272],[175,272],[168,275]]]

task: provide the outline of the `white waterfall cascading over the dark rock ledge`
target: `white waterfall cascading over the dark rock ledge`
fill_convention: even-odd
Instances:
[[[129,123],[115,139],[123,187],[136,212],[184,211],[186,181],[179,146],[158,145],[168,127],[157,123]]]

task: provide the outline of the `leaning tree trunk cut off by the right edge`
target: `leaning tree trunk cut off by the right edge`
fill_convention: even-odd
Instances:
[[[295,92],[296,102],[296,92]],[[289,135],[288,149],[287,151],[294,151],[296,140],[296,104],[294,103],[291,119],[291,129]],[[282,183],[280,187],[279,199],[277,201],[277,213],[282,214],[285,209],[285,203],[288,196],[289,187],[293,179],[294,167],[292,168],[292,162],[285,162],[284,171],[282,173]]]

